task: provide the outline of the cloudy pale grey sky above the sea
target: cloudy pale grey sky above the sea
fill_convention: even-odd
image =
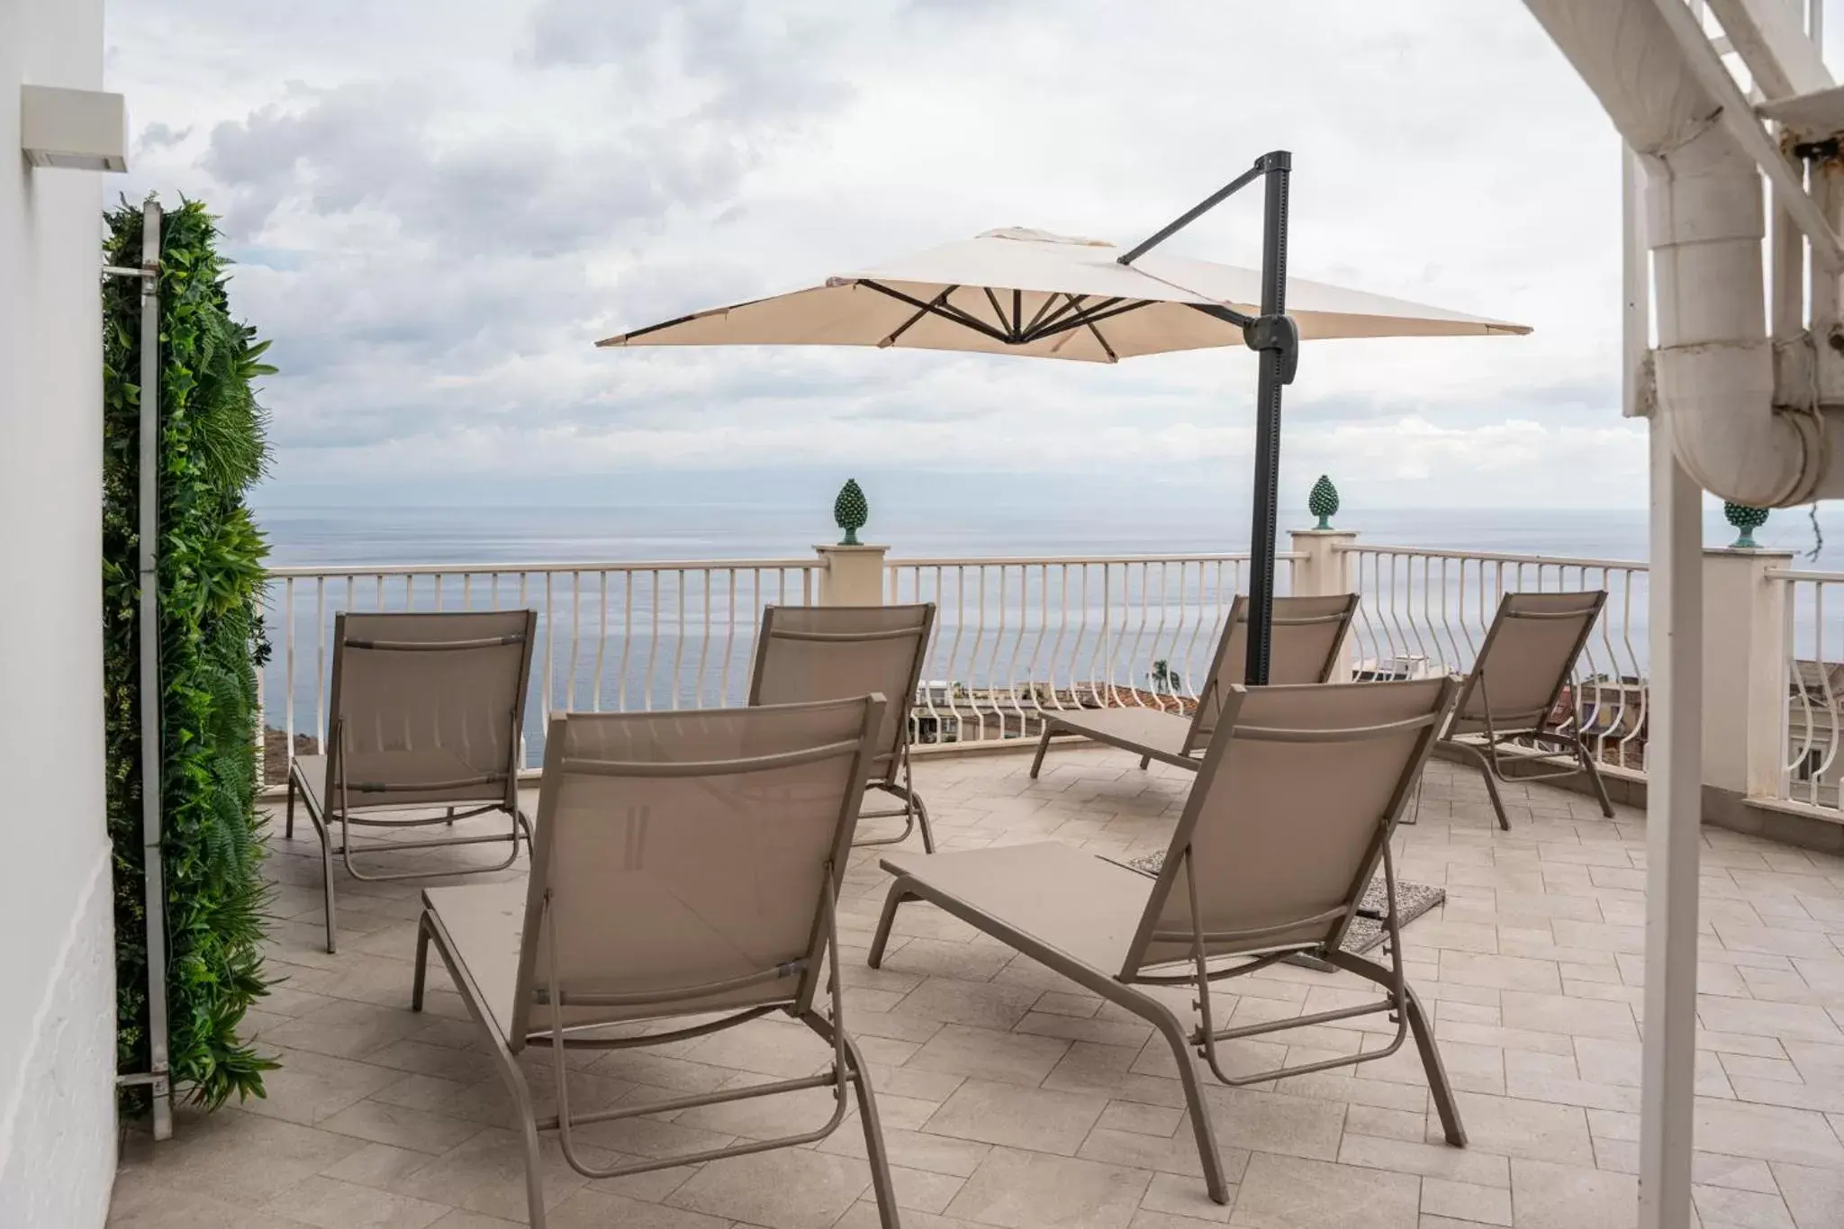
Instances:
[[[990,227],[1134,241],[1285,147],[1294,275],[1536,328],[1309,346],[1289,486],[1643,503],[1617,142],[1510,0],[111,0],[109,79],[125,192],[223,216],[234,304],[282,367],[284,490],[872,466],[1247,485],[1247,352],[592,343]],[[1173,251],[1258,263],[1247,195]]]

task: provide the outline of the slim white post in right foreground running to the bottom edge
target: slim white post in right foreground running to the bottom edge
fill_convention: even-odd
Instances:
[[[1691,1222],[1702,842],[1702,492],[1654,418],[1639,1229]],[[1778,678],[1778,674],[1776,674]]]

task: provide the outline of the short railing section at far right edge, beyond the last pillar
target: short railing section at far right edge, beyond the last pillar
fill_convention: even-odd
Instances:
[[[1781,588],[1785,750],[1779,798],[1838,813],[1844,709],[1844,573],[1768,569]]]

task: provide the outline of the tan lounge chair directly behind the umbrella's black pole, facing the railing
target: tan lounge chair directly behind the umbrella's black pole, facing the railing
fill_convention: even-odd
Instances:
[[[1357,593],[1331,597],[1276,597],[1274,636],[1269,643],[1271,684],[1322,684],[1339,665],[1339,647],[1357,612]],[[1230,617],[1217,639],[1217,654],[1189,717],[1162,713],[1156,708],[1097,708],[1044,715],[1044,735],[1038,739],[1034,778],[1044,767],[1044,752],[1058,733],[1081,733],[1097,743],[1108,743],[1129,752],[1140,752],[1140,767],[1154,759],[1180,768],[1195,768],[1210,733],[1217,728],[1223,696],[1228,687],[1243,682],[1248,661],[1248,599],[1230,603]]]

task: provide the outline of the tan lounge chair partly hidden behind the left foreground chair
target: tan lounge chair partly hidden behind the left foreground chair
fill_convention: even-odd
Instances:
[[[767,606],[756,638],[749,702],[802,704],[876,691],[892,696],[883,711],[878,759],[869,789],[902,803],[896,811],[861,811],[859,820],[904,818],[894,837],[863,837],[861,846],[892,846],[922,827],[922,848],[935,851],[928,805],[909,768],[909,709],[922,678],[922,658],[935,630],[935,603],[916,606]]]

